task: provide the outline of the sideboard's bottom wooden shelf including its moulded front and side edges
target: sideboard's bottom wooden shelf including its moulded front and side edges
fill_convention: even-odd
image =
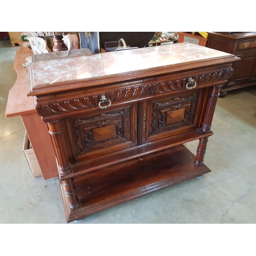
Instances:
[[[67,222],[210,172],[204,164],[196,166],[194,159],[184,145],[178,145],[75,178],[80,202],[75,209],[70,209],[60,180]]]

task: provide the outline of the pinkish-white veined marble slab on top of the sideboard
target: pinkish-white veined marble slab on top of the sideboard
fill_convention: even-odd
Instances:
[[[231,54],[190,43],[106,52],[87,56],[32,62],[33,88],[86,81],[127,72],[177,65]]]

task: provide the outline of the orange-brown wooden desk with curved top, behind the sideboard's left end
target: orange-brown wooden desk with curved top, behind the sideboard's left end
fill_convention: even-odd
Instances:
[[[36,113],[34,97],[27,96],[27,71],[22,66],[26,62],[26,58],[32,55],[32,51],[27,47],[23,47],[24,42],[21,39],[18,44],[20,48],[16,52],[13,65],[17,73],[17,80],[9,91],[6,117],[20,116],[22,118],[42,176],[45,180],[49,180],[58,176],[54,149],[48,133],[48,127]]]

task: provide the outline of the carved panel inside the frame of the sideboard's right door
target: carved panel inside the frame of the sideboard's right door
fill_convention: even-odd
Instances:
[[[197,101],[198,93],[152,101],[149,136],[194,126]]]

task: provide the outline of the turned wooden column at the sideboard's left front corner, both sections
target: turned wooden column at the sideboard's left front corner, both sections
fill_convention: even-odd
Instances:
[[[58,163],[58,170],[60,176],[65,176],[72,172],[71,165],[67,156],[67,148],[65,142],[61,136],[61,129],[59,121],[47,122],[49,127],[49,133],[51,135],[55,155]],[[78,197],[76,195],[76,189],[74,186],[74,179],[65,179],[62,181],[65,187],[65,193],[69,201],[69,206],[71,209],[77,208],[80,206]]]

